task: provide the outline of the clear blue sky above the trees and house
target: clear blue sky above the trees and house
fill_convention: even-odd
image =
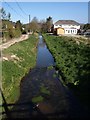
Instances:
[[[17,1],[17,0],[15,0]],[[46,20],[52,17],[55,23],[58,20],[75,20],[79,23],[88,23],[88,2],[2,2],[6,13],[11,13],[11,20],[20,20],[23,24],[33,17]]]

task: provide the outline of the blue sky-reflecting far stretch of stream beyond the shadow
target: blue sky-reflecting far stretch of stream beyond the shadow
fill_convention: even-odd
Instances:
[[[43,37],[40,35],[39,43],[38,43],[36,66],[37,67],[48,67],[50,65],[54,65],[54,59],[50,51],[47,49],[47,46],[43,40]]]

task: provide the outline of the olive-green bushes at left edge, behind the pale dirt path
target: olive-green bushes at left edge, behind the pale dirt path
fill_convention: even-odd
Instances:
[[[13,38],[19,38],[23,34],[22,24],[19,21],[13,23],[9,20],[2,20],[2,43]]]

